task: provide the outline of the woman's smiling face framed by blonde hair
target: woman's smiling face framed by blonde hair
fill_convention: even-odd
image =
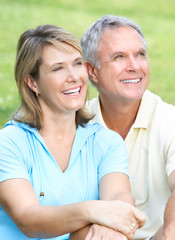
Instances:
[[[79,51],[65,44],[68,51],[49,45],[42,54],[37,91],[44,114],[75,112],[83,107],[88,74]]]

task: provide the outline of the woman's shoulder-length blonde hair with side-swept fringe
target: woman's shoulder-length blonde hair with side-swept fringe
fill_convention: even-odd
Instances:
[[[69,44],[82,55],[82,48],[74,35],[54,25],[41,25],[36,29],[25,31],[17,45],[15,64],[15,79],[21,97],[21,106],[13,119],[24,122],[38,130],[42,127],[43,112],[36,94],[28,87],[25,77],[30,75],[35,81],[39,80],[39,68],[42,64],[42,52],[47,45],[56,45],[61,49]],[[76,125],[83,126],[92,117],[82,109],[76,112]]]

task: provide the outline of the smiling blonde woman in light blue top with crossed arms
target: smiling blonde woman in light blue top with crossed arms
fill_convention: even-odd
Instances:
[[[126,150],[119,135],[88,124],[77,39],[52,25],[27,30],[15,78],[22,104],[0,131],[1,238],[68,239],[100,224],[132,239],[144,216],[128,204]]]

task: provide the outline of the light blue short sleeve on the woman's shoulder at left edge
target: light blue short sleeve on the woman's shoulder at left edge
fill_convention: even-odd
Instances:
[[[12,178],[30,180],[24,162],[26,151],[23,134],[20,129],[14,132],[14,128],[6,127],[0,131],[0,182]]]

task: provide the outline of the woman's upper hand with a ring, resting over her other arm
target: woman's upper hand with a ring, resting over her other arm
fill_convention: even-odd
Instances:
[[[102,209],[95,209],[92,222],[121,232],[129,240],[144,225],[144,214],[131,204],[119,200],[100,202]]]

